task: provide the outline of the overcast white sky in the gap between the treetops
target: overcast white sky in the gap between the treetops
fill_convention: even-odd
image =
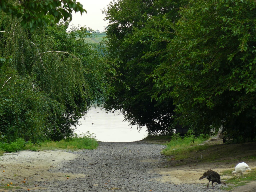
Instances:
[[[87,10],[87,14],[80,13],[72,14],[72,21],[70,24],[75,26],[86,25],[94,30],[104,31],[105,26],[108,25],[108,21],[104,21],[105,15],[101,12],[101,9],[106,8],[109,2],[112,0],[77,0],[83,5],[83,8]]]

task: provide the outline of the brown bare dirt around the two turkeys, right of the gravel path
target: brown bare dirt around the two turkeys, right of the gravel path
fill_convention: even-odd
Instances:
[[[169,182],[173,184],[208,184],[207,179],[199,180],[202,174],[206,170],[214,170],[221,175],[221,179],[229,179],[232,177],[230,174],[222,174],[224,170],[234,171],[234,167],[241,162],[246,162],[251,169],[256,169],[256,143],[244,143],[227,145],[223,144],[222,140],[208,141],[206,144],[212,145],[212,147],[203,152],[196,152],[191,155],[190,158],[184,160],[175,160],[170,158],[167,164],[164,164],[164,168],[158,168],[152,170],[153,172],[162,175],[161,178],[156,179],[159,182]],[[217,155],[216,161],[204,162],[204,158],[211,158],[210,156]],[[251,157],[247,159],[247,157]],[[243,173],[246,177],[246,173]],[[256,181],[248,183],[247,185],[240,186],[233,192],[255,192]]]

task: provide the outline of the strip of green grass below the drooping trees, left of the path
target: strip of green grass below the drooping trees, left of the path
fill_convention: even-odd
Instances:
[[[87,132],[87,134],[74,134],[73,137],[61,141],[42,141],[37,145],[31,142],[25,142],[22,139],[18,139],[17,141],[9,144],[0,144],[0,155],[3,155],[3,152],[16,152],[21,150],[79,150],[96,149],[97,147],[97,140],[93,134]]]

